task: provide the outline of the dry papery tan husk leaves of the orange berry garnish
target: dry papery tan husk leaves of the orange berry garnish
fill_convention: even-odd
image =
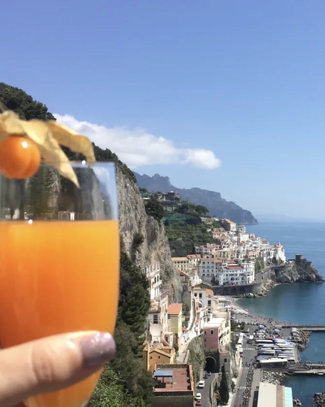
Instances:
[[[96,162],[91,141],[54,120],[25,121],[19,119],[18,115],[10,110],[1,113],[0,141],[15,135],[25,135],[33,140],[43,160],[55,167],[62,176],[71,180],[77,187],[80,187],[77,176],[60,144],[76,153],[82,153],[87,162]]]

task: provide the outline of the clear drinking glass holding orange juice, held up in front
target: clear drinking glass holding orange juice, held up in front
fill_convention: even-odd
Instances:
[[[0,175],[0,343],[114,333],[119,284],[115,167],[71,163],[80,188],[47,164],[25,180]],[[100,371],[28,407],[85,406]]]

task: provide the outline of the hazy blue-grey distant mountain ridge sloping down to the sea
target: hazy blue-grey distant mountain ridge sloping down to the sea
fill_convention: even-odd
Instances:
[[[204,205],[209,209],[211,216],[228,218],[237,223],[258,224],[251,212],[241,208],[232,201],[226,201],[220,192],[209,191],[201,188],[178,188],[171,185],[168,177],[155,174],[152,177],[134,172],[139,187],[152,192],[174,191],[179,193],[181,200],[193,202],[195,205]]]

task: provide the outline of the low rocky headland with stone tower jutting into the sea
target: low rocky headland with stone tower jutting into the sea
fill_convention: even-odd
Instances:
[[[302,259],[300,262],[286,263],[273,272],[274,281],[277,283],[323,281],[323,277],[318,270],[306,259]]]

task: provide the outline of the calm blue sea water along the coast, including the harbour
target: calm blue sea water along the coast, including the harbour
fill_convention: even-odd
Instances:
[[[283,222],[261,220],[259,225],[246,226],[246,231],[264,237],[272,244],[278,241],[285,248],[286,258],[302,254],[325,279],[325,222]],[[264,297],[240,299],[240,305],[257,314],[279,321],[325,324],[325,282],[283,284],[272,288]],[[325,332],[312,333],[302,361],[325,362]],[[312,396],[325,391],[325,377],[287,377],[294,398],[303,407],[314,407]]]

